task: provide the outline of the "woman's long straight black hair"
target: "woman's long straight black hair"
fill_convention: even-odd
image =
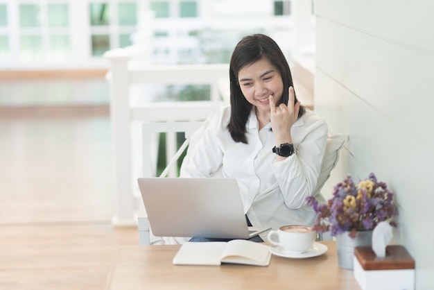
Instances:
[[[288,87],[294,87],[293,77],[291,76],[289,65],[284,53],[281,52],[281,49],[272,38],[263,34],[254,34],[243,37],[243,39],[235,46],[229,65],[231,118],[227,128],[235,142],[248,143],[247,137],[245,136],[245,124],[248,121],[253,106],[245,99],[241,92],[241,87],[238,83],[238,71],[246,65],[251,65],[253,62],[257,62],[263,58],[269,60],[281,74],[284,83],[284,93],[280,103],[288,105]],[[294,101],[297,103],[297,96],[295,96]],[[304,112],[304,107],[300,105],[298,117],[300,118]]]

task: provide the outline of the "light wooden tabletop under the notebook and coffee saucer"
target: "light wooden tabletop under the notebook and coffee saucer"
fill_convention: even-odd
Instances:
[[[175,266],[180,246],[123,246],[106,289],[360,289],[353,271],[338,266],[335,241],[327,253],[308,259],[272,255],[269,266],[222,264]]]

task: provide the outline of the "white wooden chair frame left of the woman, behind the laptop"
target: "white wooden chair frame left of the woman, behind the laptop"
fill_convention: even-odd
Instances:
[[[161,122],[161,123],[144,123],[142,125],[142,164],[143,164],[143,176],[153,177],[156,176],[156,163],[155,150],[152,150],[152,138],[155,133],[167,133],[168,135],[176,133],[185,133],[184,143],[177,149],[177,151],[171,156],[171,159],[166,164],[166,168],[162,171],[159,177],[164,178],[170,174],[171,169],[176,164],[177,160],[181,157],[182,153],[189,146],[191,134],[198,130],[202,126],[203,121],[186,121],[186,122]],[[169,137],[169,136],[168,136]],[[169,138],[170,139],[170,138]],[[170,142],[168,142],[168,147]],[[173,150],[173,148],[172,148]],[[170,149],[169,149],[170,151]],[[137,216],[137,226],[139,229],[139,244],[149,245],[155,243],[158,239],[152,234],[148,223],[148,215],[144,203],[139,198],[139,212]]]

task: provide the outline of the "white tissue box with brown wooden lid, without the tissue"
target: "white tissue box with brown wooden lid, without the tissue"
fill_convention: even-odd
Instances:
[[[371,246],[354,248],[354,278],[362,290],[415,289],[415,260],[406,248],[387,246],[385,257],[376,257]]]

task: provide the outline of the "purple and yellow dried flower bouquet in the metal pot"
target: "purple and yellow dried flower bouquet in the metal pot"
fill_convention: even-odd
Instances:
[[[319,205],[313,196],[307,202],[317,214],[313,230],[330,231],[333,237],[348,231],[349,237],[354,238],[358,231],[374,230],[381,221],[396,226],[392,221],[398,214],[394,196],[385,182],[376,180],[374,173],[357,184],[348,175],[335,186],[327,204]]]

